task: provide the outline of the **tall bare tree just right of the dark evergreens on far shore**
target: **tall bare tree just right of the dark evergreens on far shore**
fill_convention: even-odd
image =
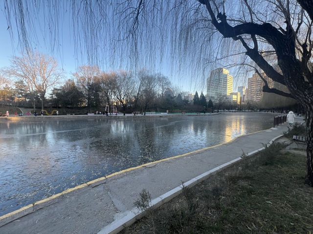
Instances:
[[[84,95],[91,113],[91,102],[97,95],[97,92],[100,91],[101,71],[97,66],[83,65],[72,75],[76,79],[77,86]]]

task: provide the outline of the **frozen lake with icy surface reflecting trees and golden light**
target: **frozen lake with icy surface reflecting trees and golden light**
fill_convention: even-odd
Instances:
[[[0,215],[90,180],[272,127],[273,114],[0,119]]]

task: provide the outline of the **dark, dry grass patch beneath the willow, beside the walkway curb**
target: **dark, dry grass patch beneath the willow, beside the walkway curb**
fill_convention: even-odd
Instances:
[[[306,157],[272,144],[194,186],[123,234],[313,233]],[[249,164],[249,167],[246,165]]]

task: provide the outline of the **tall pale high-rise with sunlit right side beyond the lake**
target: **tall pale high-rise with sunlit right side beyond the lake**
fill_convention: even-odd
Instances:
[[[208,98],[228,96],[233,92],[233,77],[228,70],[218,68],[211,71],[210,77],[206,80],[206,95]]]

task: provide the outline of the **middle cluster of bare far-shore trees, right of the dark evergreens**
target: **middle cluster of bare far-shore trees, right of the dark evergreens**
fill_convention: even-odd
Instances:
[[[97,99],[100,99],[102,105],[109,105],[109,107],[112,101],[117,101],[122,106],[124,115],[130,103],[134,104],[136,110],[141,101],[144,106],[143,111],[146,112],[146,108],[156,98],[162,99],[165,91],[171,87],[167,77],[144,69],[137,74],[124,70],[107,73],[96,66],[84,65],[73,73],[73,77],[87,101],[90,112],[92,102]]]

